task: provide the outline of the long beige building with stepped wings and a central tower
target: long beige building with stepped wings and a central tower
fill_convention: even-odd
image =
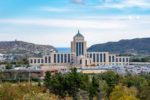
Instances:
[[[31,66],[126,66],[129,65],[129,57],[109,52],[87,52],[87,42],[78,31],[71,42],[71,53],[52,52],[43,57],[30,57],[29,63]]]

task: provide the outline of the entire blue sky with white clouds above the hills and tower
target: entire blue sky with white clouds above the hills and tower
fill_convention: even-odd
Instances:
[[[0,0],[0,41],[70,47],[150,37],[150,0]]]

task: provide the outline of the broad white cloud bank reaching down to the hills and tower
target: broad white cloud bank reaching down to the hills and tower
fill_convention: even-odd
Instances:
[[[0,25],[4,25],[0,27],[0,39],[19,39],[38,44],[69,47],[78,28],[85,35],[88,45],[150,36],[149,16],[118,16],[112,19],[104,16],[105,19],[103,19],[101,16],[98,18],[88,20],[0,19]]]

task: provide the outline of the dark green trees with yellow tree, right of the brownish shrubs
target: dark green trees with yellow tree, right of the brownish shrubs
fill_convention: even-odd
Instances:
[[[150,100],[149,74],[121,76],[108,71],[88,75],[74,68],[67,74],[46,72],[44,84],[60,100],[68,96],[73,100]]]

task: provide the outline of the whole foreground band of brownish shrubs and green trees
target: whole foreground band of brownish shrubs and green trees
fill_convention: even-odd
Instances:
[[[66,74],[47,71],[31,84],[0,81],[0,100],[150,100],[149,94],[150,74],[83,74],[73,68]]]

